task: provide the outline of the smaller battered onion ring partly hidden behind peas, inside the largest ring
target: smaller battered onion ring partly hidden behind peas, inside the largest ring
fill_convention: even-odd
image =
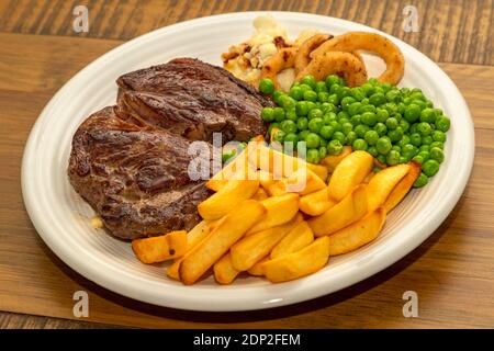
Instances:
[[[316,80],[324,80],[329,75],[344,76],[349,87],[358,87],[367,81],[366,65],[351,53],[327,52],[316,55],[296,76],[300,81],[305,75],[312,75]]]

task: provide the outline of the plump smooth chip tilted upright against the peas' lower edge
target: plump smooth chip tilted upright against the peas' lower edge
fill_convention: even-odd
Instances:
[[[355,186],[360,184],[372,170],[373,158],[366,151],[353,151],[335,168],[327,191],[329,197],[341,201]]]

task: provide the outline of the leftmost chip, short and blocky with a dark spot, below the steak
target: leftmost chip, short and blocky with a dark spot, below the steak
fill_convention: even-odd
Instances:
[[[187,231],[170,231],[159,237],[135,239],[132,241],[135,256],[143,263],[171,260],[187,251]]]

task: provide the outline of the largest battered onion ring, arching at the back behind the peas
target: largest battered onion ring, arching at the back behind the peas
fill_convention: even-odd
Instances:
[[[400,48],[386,37],[366,32],[349,32],[325,42],[311,53],[315,58],[327,52],[368,50],[378,54],[386,63],[386,70],[378,78],[381,82],[397,84],[405,71],[405,58]]]

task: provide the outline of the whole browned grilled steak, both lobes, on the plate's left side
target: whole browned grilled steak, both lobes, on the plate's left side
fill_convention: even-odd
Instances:
[[[198,158],[189,146],[211,141],[214,132],[224,141],[265,134],[260,111],[272,102],[222,68],[190,58],[117,83],[117,104],[91,114],[74,135],[69,181],[119,238],[189,230],[211,194],[204,181],[189,178]]]

